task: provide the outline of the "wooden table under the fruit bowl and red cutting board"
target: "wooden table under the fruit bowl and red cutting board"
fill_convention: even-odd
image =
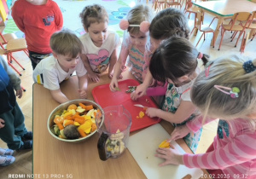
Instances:
[[[124,72],[124,78],[133,78],[131,73]],[[88,99],[93,101],[91,90],[100,84],[109,84],[108,74],[102,75],[99,83],[89,83]],[[68,99],[78,99],[78,78],[73,76],[61,84],[62,92]],[[54,101],[43,85],[33,84],[33,174],[41,178],[139,178],[146,176],[137,165],[128,149],[118,159],[102,161],[97,152],[98,134],[91,136],[87,141],[67,143],[57,141],[49,135],[47,119],[49,113],[59,105]],[[172,124],[162,120],[160,124],[169,133],[173,130]],[[135,134],[135,132],[131,132]],[[187,153],[191,153],[183,139],[177,140]],[[207,171],[204,170],[207,174]],[[170,174],[172,175],[172,174]],[[205,177],[204,177],[205,178]]]

